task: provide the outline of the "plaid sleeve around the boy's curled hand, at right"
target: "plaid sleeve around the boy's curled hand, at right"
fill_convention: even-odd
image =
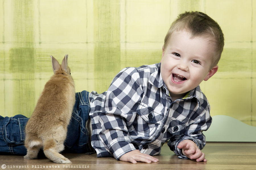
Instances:
[[[202,133],[202,131],[207,130],[210,127],[210,124],[212,122],[212,118],[210,116],[210,105],[208,103],[208,106],[204,111],[200,111],[198,109],[198,112],[201,112],[199,116],[195,119],[190,119],[190,124],[185,128],[185,131],[181,135],[176,135],[168,141],[168,146],[174,153],[179,157],[183,159],[187,159],[186,156],[181,154],[181,150],[177,148],[179,143],[183,140],[189,139],[196,143],[198,148],[202,150],[206,144],[205,135]]]

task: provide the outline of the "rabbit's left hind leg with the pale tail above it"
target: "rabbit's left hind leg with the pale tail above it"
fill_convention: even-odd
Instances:
[[[29,142],[27,142],[29,141]],[[27,154],[24,156],[26,159],[37,159],[38,152],[42,147],[42,142],[37,138],[34,140],[27,140],[25,141],[25,146],[27,148]]]

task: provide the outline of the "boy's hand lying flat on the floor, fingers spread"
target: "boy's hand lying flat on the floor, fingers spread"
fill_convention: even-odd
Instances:
[[[131,163],[137,163],[138,162],[158,162],[158,159],[154,158],[153,156],[143,154],[139,150],[132,150],[131,152],[127,152],[123,156],[119,158],[119,160],[124,162],[131,162]]]

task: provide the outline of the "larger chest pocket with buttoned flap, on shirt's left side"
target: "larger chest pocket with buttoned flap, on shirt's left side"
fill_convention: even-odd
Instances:
[[[141,103],[136,110],[138,116],[133,124],[134,131],[141,136],[151,136],[162,122],[161,112]]]

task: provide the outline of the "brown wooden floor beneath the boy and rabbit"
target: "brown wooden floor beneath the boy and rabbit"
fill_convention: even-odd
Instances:
[[[203,152],[206,154],[207,162],[179,159],[167,144],[164,144],[161,154],[155,156],[159,162],[150,164],[140,162],[132,164],[114,158],[96,158],[96,154],[63,154],[72,164],[56,164],[45,157],[26,160],[22,156],[0,155],[0,169],[5,165],[5,169],[256,169],[256,143],[207,143]]]

